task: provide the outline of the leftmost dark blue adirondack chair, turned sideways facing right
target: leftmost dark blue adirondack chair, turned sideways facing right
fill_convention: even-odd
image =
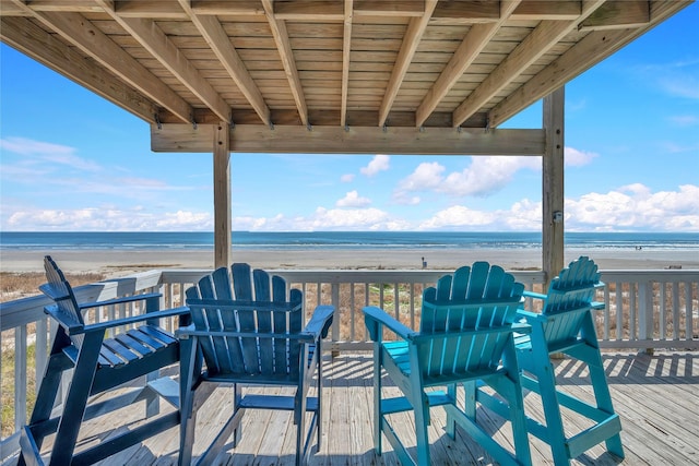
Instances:
[[[158,294],[78,303],[73,289],[49,255],[44,259],[44,266],[48,283],[39,288],[55,301],[55,306],[46,307],[45,310],[59,326],[29,425],[21,433],[22,451],[19,464],[44,464],[40,456],[42,443],[52,432],[56,432],[56,439],[49,464],[90,464],[177,426],[179,410],[153,416],[157,413],[158,395],[164,395],[164,398],[170,403],[177,403],[176,396],[175,398],[168,396],[168,384],[158,383],[162,382],[161,380],[153,380],[153,383],[149,383],[138,393],[129,392],[122,396],[112,397],[108,404],[103,402],[88,404],[88,397],[142,375],[152,379],[153,373],[158,369],[177,363],[179,361],[178,340],[156,323],[157,319],[175,315],[187,319],[189,313],[187,308],[161,311]],[[95,324],[85,324],[83,320],[82,312],[87,309],[137,301],[145,301],[146,313]],[[105,338],[105,332],[111,328],[139,323],[144,324],[112,338]],[[62,375],[70,369],[73,370],[72,378],[62,413],[51,417]],[[171,383],[175,387],[177,386],[175,382]],[[166,393],[161,392],[161,387],[165,387]],[[175,393],[177,393],[176,390]],[[146,416],[151,420],[75,453],[75,442],[83,420],[144,399]],[[115,425],[118,425],[118,420]]]

